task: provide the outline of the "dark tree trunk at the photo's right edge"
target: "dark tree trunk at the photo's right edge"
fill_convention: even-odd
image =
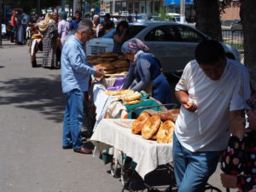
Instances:
[[[240,17],[244,32],[244,63],[249,70],[250,80],[256,89],[256,1],[241,0]]]

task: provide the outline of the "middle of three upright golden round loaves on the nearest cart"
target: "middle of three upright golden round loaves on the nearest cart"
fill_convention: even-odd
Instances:
[[[143,125],[142,128],[142,135],[144,139],[150,139],[152,136],[154,136],[154,133],[158,131],[160,127],[161,119],[159,115],[153,115],[146,123]]]

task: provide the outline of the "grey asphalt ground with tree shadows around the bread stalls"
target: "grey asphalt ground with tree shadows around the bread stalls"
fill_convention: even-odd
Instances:
[[[109,165],[91,154],[61,149],[60,70],[32,68],[27,46],[3,47],[0,192],[120,192],[119,178],[108,173]],[[218,175],[209,183],[222,189]]]

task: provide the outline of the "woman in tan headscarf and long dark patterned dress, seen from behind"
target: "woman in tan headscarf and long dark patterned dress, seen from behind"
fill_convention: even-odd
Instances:
[[[43,67],[57,67],[56,39],[58,28],[51,14],[45,15],[44,20],[37,24],[43,38]]]

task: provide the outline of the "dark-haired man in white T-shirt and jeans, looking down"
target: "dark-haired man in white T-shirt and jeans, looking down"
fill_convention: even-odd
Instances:
[[[243,125],[234,124],[234,119],[243,115],[250,97],[247,69],[226,59],[217,41],[199,44],[195,59],[184,68],[175,89],[181,103],[173,138],[179,192],[204,191],[230,131],[243,135]]]

